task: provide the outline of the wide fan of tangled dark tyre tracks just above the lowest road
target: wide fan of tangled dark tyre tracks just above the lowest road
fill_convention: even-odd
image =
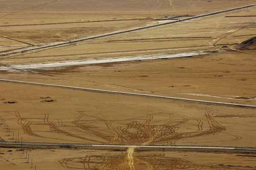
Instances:
[[[140,118],[113,120],[103,115],[100,117],[87,115],[86,111],[78,111],[79,115],[75,121],[62,122],[61,119],[50,119],[48,114],[44,114],[44,118],[37,117],[21,117],[18,112],[6,112],[18,118],[18,124],[22,125],[23,132],[34,137],[49,138],[46,132],[50,134],[58,133],[62,135],[61,139],[66,136],[83,139],[84,141],[97,142],[106,141],[107,143],[126,144],[126,145],[175,145],[180,139],[190,139],[205,135],[217,135],[226,130],[226,128],[215,122],[207,113],[206,119],[186,118],[171,113],[153,113],[146,114]],[[157,116],[154,116],[157,114]],[[162,119],[164,118],[164,119]],[[203,122],[209,125],[202,127]],[[39,129],[39,127],[49,129],[44,132],[44,136],[40,135],[40,131],[34,131],[30,125]],[[180,127],[189,125],[189,132],[179,132]],[[196,127],[200,127],[197,130]],[[100,129],[100,130],[99,130]],[[191,131],[191,129],[195,129]],[[229,134],[227,134],[229,135]],[[87,139],[84,136],[95,136],[101,140]],[[230,134],[229,136],[236,137]],[[95,139],[94,137],[94,139]],[[234,140],[227,138],[228,140]],[[240,138],[241,139],[241,138]],[[105,143],[105,142],[104,142]]]

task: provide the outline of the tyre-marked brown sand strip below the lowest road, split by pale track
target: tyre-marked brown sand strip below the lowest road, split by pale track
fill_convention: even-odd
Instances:
[[[89,148],[90,149],[90,148]],[[10,152],[12,151],[12,152]],[[130,160],[125,150],[29,150],[0,149],[2,170],[125,170]],[[26,159],[29,154],[29,162]],[[140,170],[251,170],[256,168],[255,155],[243,153],[138,152],[135,149],[132,167]],[[32,164],[31,164],[32,161]],[[130,162],[131,163],[131,162]]]

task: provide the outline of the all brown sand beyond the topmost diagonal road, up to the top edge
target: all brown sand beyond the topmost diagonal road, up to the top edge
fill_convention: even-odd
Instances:
[[[166,14],[198,15],[252,3],[253,0],[246,2],[238,0],[232,3],[227,3],[226,0],[191,0],[189,2],[185,0],[139,0],[134,3],[119,0],[111,2],[90,0],[72,1],[72,4],[67,0],[29,0],[22,1],[22,3],[1,1],[0,30],[2,36],[39,45],[143,26]],[[210,8],[211,6],[214,8]],[[239,11],[245,12],[246,9]],[[105,20],[108,22],[104,22]]]

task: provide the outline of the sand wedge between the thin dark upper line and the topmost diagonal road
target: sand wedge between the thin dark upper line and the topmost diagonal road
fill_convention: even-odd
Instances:
[[[33,45],[39,45],[50,42],[73,40],[81,37],[89,37],[91,35],[103,34],[130,27],[144,26],[145,23],[150,21],[150,19],[146,19],[56,25],[12,26],[2,27],[1,34],[5,37],[29,42]]]

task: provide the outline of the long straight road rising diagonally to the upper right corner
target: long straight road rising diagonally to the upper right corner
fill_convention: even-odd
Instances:
[[[239,10],[239,9],[243,9],[243,8],[249,8],[249,7],[253,7],[253,6],[256,6],[256,4],[241,6],[241,7],[237,7],[237,8],[230,8],[230,9],[226,9],[226,10],[222,10],[222,11],[211,12],[211,13],[208,13],[208,14],[197,15],[197,16],[194,16],[194,17],[187,17],[187,18],[184,18],[184,19],[169,21],[169,22],[166,22],[166,23],[158,23],[158,24],[153,24],[153,25],[150,25],[150,26],[141,26],[141,27],[138,27],[138,28],[130,28],[130,29],[122,30],[122,31],[114,31],[114,32],[111,32],[111,33],[100,34],[100,35],[96,35],[96,36],[85,37],[85,38],[80,38],[80,39],[71,40],[71,41],[59,42],[59,43],[50,44],[50,45],[44,45],[44,46],[14,50],[14,51],[10,51],[10,52],[0,53],[0,56],[1,55],[16,54],[16,53],[19,53],[19,52],[38,50],[38,49],[43,49],[43,48],[49,48],[49,47],[63,46],[63,45],[73,44],[73,43],[76,43],[76,42],[79,42],[79,41],[91,40],[91,39],[107,37],[107,36],[116,35],[116,34],[122,34],[122,33],[126,33],[126,32],[138,31],[138,30],[142,30],[142,29],[147,29],[147,28],[163,26],[163,25],[167,25],[167,24],[178,23],[178,22],[182,22],[182,21],[186,21],[186,20],[193,20],[195,18],[211,16],[211,15],[215,15],[215,14],[220,14],[220,13],[224,13],[224,12],[228,12],[228,11]]]

